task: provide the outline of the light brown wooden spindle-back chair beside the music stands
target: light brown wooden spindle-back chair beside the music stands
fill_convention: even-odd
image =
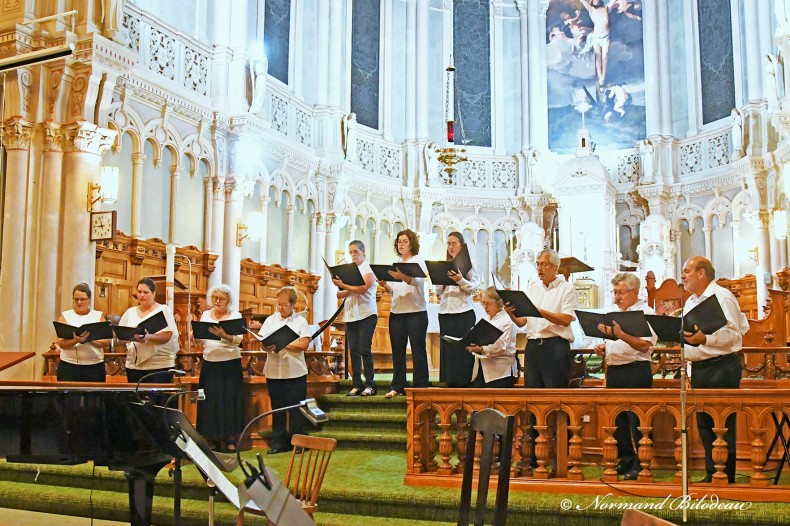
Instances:
[[[291,462],[288,464],[288,473],[283,484],[291,494],[302,503],[304,509],[311,517],[318,510],[318,492],[324,482],[329,459],[337,446],[334,438],[310,437],[294,435],[291,439],[294,449],[291,452]],[[242,508],[236,517],[236,526],[244,524],[244,513],[262,515],[257,510]]]

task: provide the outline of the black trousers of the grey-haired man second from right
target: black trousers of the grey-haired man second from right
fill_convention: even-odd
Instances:
[[[653,387],[653,373],[650,362],[639,361],[624,365],[610,365],[606,369],[606,387],[610,389],[650,388]],[[632,411],[623,411],[615,418],[617,429],[617,456],[627,471],[639,469],[639,418]]]

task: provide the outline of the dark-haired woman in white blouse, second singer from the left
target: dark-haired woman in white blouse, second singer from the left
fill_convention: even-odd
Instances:
[[[146,383],[170,382],[167,370],[176,365],[178,352],[178,328],[173,313],[167,305],[161,305],[154,300],[156,284],[151,278],[143,278],[137,282],[137,307],[130,307],[121,316],[118,325],[137,327],[140,322],[161,312],[167,320],[167,327],[156,334],[146,332],[135,335],[134,341],[126,343],[126,378],[131,383],[137,383],[146,378]],[[159,374],[154,374],[159,373]]]

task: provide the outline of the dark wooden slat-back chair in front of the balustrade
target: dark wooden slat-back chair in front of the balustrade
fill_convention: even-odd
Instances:
[[[469,423],[470,435],[464,456],[464,478],[461,484],[461,502],[458,505],[458,526],[468,526],[471,514],[472,483],[475,470],[475,449],[478,435],[482,436],[482,453],[477,480],[477,504],[475,526],[482,526],[485,519],[488,483],[494,446],[499,444],[499,478],[494,504],[493,526],[504,526],[507,521],[507,499],[510,489],[510,463],[513,456],[513,425],[515,416],[505,415],[496,409],[483,409],[472,415]]]

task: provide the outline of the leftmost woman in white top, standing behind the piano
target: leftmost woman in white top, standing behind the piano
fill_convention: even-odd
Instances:
[[[91,288],[87,283],[78,283],[71,291],[72,309],[64,311],[58,321],[73,327],[87,323],[104,321],[104,313],[91,309]],[[58,338],[55,343],[60,347],[58,364],[59,382],[105,382],[107,372],[104,368],[104,348],[110,340],[89,342],[90,334],[74,334],[73,338]]]

